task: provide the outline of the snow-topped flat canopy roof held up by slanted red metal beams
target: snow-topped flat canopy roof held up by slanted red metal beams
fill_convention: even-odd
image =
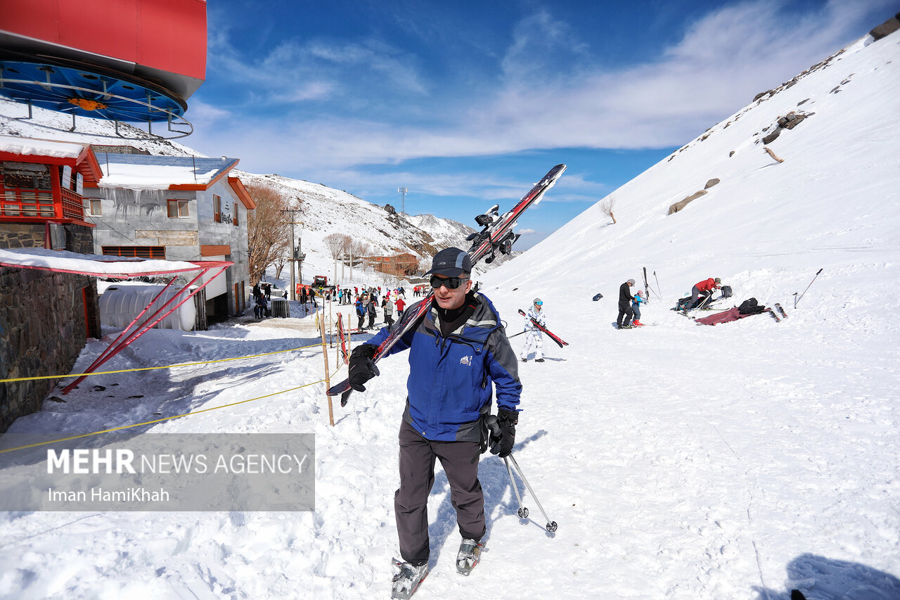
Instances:
[[[40,268],[60,273],[76,273],[95,277],[144,277],[184,271],[200,271],[211,267],[228,267],[228,260],[158,260],[121,256],[78,254],[67,250],[43,248],[0,249],[0,265],[16,268]]]

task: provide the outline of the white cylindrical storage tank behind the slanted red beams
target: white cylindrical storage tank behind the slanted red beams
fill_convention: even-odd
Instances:
[[[106,291],[100,295],[100,322],[108,327],[124,329],[131,323],[144,307],[146,307],[153,298],[165,286],[141,285],[141,286],[122,286],[113,285],[106,288]],[[157,301],[147,309],[147,312],[141,317],[141,321],[153,314],[157,309],[166,304],[169,298],[178,295],[178,299],[173,300],[172,304],[160,313],[167,313],[173,306],[184,300],[190,290],[178,292],[177,289],[166,290],[166,293],[160,295]],[[159,315],[157,315],[158,317]],[[190,332],[197,318],[197,308],[193,305],[193,298],[179,306],[174,313],[166,316],[165,319],[154,325],[156,329],[180,329]]]

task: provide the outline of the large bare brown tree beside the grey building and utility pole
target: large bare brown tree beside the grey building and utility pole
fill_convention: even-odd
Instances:
[[[288,207],[287,200],[274,187],[250,184],[247,193],[257,203],[257,209],[247,219],[250,281],[256,283],[270,265],[276,265],[279,274],[284,268],[285,257],[291,251],[291,224],[281,212]]]

